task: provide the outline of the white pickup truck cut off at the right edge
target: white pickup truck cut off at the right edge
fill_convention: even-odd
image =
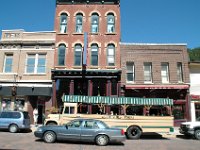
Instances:
[[[183,122],[179,132],[185,136],[194,136],[197,140],[200,140],[200,117],[193,122]]]

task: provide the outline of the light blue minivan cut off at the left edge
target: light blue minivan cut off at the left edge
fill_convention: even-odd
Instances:
[[[11,133],[30,129],[30,117],[25,111],[0,112],[0,129],[8,129]]]

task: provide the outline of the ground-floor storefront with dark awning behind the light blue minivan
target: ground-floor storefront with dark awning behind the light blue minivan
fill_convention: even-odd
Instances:
[[[38,123],[42,123],[45,105],[51,103],[51,93],[51,84],[17,84],[15,87],[9,84],[2,84],[0,89],[0,111],[28,111],[33,121],[33,109],[37,107],[39,112]]]

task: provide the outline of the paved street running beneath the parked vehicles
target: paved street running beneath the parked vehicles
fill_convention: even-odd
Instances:
[[[0,132],[0,150],[197,150],[200,141],[195,139],[186,139],[182,135],[162,136],[158,134],[145,134],[139,140],[126,140],[124,143],[113,143],[108,146],[97,146],[94,143],[71,143],[56,142],[54,144],[44,143],[34,137],[33,132],[28,133],[9,133]]]

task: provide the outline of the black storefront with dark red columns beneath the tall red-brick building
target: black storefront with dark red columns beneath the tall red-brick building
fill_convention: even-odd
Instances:
[[[63,105],[63,95],[114,96],[121,93],[120,70],[52,70],[53,100]],[[99,113],[98,106],[84,105],[84,113]]]

